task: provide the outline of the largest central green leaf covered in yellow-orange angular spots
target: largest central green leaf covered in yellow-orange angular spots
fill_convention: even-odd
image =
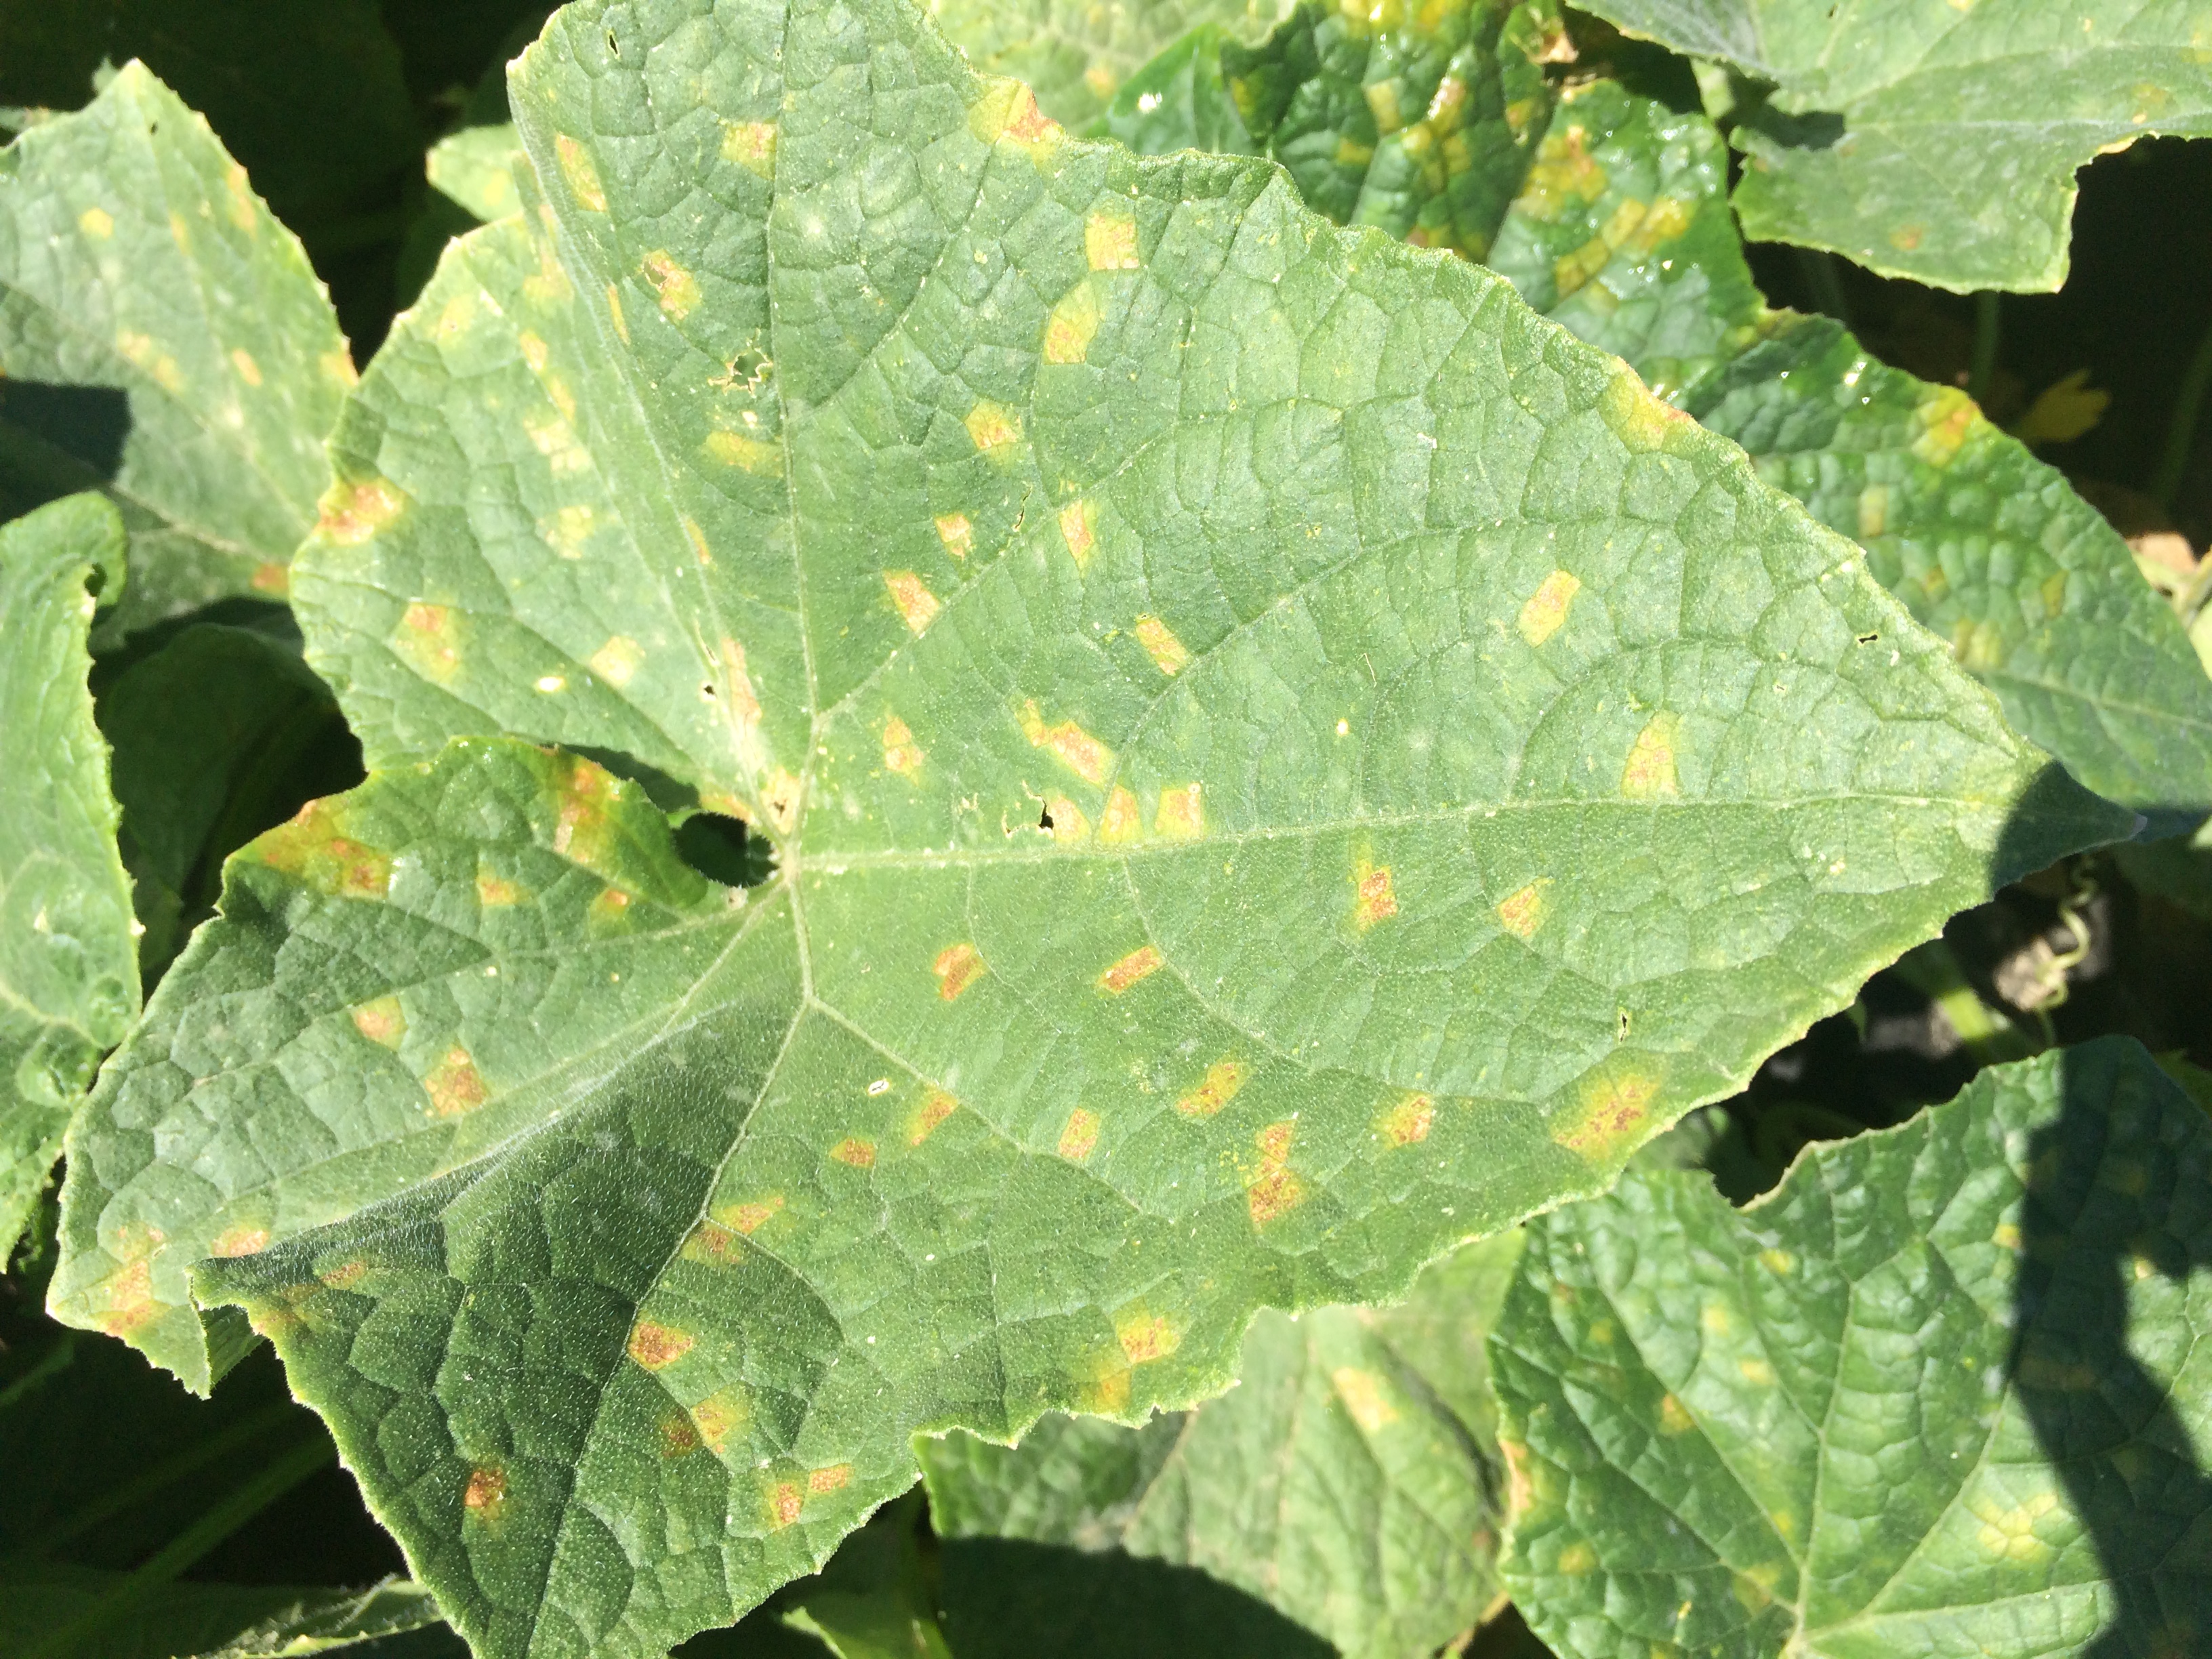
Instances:
[[[1217,1391],[2112,834],[1739,449],[1263,161],[898,0],[571,7],[513,95],[546,212],[296,571],[385,770],[232,860],[53,1292],[204,1387],[239,1256],[484,1652],[726,1621],[918,1429]]]

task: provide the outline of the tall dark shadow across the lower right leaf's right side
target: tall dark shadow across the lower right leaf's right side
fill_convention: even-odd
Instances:
[[[2011,1380],[2115,1590],[2084,1655],[2203,1652],[2212,1480],[2128,1312],[2212,1267],[2212,1126],[2132,1042],[2070,1048],[2064,1091],[2028,1148]]]

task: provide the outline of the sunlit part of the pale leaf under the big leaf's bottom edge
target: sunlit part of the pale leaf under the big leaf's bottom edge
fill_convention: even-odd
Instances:
[[[1194,1411],[1137,1429],[1055,1416],[1020,1447],[927,1440],[931,1520],[1197,1566],[1338,1652],[1427,1659],[1498,1595],[1482,1343],[1520,1245],[1467,1245],[1398,1307],[1261,1314],[1237,1387]]]

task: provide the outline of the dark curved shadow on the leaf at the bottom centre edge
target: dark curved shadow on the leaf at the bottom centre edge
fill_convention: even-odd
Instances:
[[[945,1637],[960,1659],[1334,1659],[1265,1601],[1192,1566],[1011,1537],[940,1546]]]

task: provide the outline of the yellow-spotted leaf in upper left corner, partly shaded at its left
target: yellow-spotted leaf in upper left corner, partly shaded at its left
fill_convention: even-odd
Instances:
[[[115,628],[283,593],[354,380],[323,288],[142,64],[0,150],[0,515],[104,489]]]

